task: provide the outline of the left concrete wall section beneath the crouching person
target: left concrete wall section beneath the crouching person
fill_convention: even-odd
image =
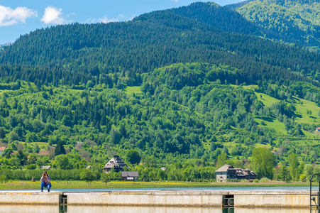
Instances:
[[[62,192],[1,191],[0,204],[59,204]]]

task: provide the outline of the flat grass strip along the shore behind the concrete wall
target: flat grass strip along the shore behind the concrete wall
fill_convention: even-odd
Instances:
[[[309,186],[309,182],[121,182],[111,181],[106,184],[101,181],[52,181],[55,189],[103,189],[103,188],[164,188],[164,187],[277,187],[277,186]],[[316,183],[314,183],[316,185]],[[0,184],[0,190],[40,190],[40,182],[10,181]]]

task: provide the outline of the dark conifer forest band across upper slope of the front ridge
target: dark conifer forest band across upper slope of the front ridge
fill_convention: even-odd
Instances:
[[[0,61],[2,77],[56,86],[88,80],[112,85],[109,74],[114,72],[123,72],[126,84],[138,85],[141,81],[136,75],[175,62],[237,67],[238,81],[246,83],[288,77],[310,81],[304,75],[316,72],[320,65],[314,53],[221,32],[172,11],[146,13],[123,23],[76,23],[38,30],[2,51]]]

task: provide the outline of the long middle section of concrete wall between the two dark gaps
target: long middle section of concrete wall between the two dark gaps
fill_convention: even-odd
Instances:
[[[222,207],[225,191],[118,191],[67,193],[68,205]]]

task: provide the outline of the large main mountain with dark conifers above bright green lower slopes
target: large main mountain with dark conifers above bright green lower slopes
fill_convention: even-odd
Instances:
[[[22,35],[0,53],[0,143],[20,151],[4,153],[13,160],[0,167],[34,168],[23,152],[32,157],[40,148],[55,160],[38,158],[59,168],[59,141],[69,170],[99,171],[112,155],[132,150],[146,170],[214,170],[248,164],[263,146],[277,162],[294,153],[313,163],[320,55],[266,33],[236,11],[196,3]],[[231,159],[221,161],[224,154]],[[167,179],[210,179],[199,174]]]

